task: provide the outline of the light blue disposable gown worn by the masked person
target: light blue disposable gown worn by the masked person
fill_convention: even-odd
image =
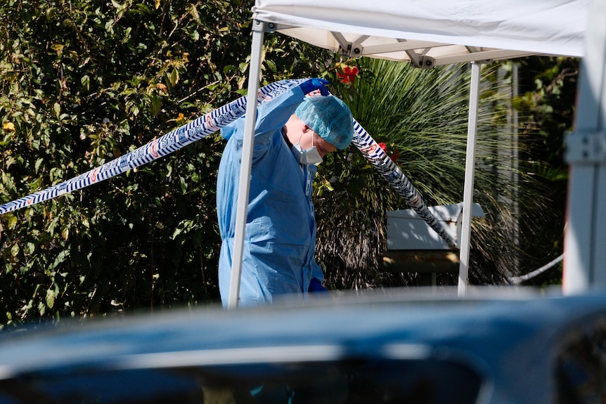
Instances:
[[[271,303],[278,294],[307,294],[323,280],[314,259],[316,219],[311,202],[316,167],[292,155],[282,127],[304,99],[299,87],[257,109],[239,306]],[[245,117],[221,129],[227,145],[217,178],[221,232],[219,290],[227,305]]]

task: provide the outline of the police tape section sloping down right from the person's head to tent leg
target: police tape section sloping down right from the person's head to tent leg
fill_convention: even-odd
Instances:
[[[387,155],[380,145],[368,134],[368,132],[354,119],[354,139],[352,141],[370,164],[387,180],[387,183],[404,198],[406,203],[438,233],[451,249],[456,249],[456,242],[450,237],[444,226],[436,219],[434,214],[427,208],[427,204],[415,189],[411,181],[404,175],[396,163]]]

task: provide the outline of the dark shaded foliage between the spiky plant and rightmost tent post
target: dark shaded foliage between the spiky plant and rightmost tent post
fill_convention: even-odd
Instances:
[[[534,133],[533,141],[524,155],[524,168],[544,183],[552,203],[544,214],[543,232],[528,244],[539,244],[529,261],[536,268],[562,254],[565,209],[568,188],[568,167],[564,161],[565,135],[574,124],[574,101],[579,75],[579,59],[534,57],[520,61],[524,72],[520,80],[520,95],[514,105],[529,119],[522,126]],[[557,284],[562,280],[562,265],[546,271],[527,284]]]

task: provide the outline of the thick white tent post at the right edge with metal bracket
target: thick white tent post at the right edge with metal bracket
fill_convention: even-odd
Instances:
[[[562,292],[606,286],[606,2],[591,4],[570,164]]]

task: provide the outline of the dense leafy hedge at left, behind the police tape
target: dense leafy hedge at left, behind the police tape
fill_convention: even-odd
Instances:
[[[0,4],[0,201],[63,182],[245,93],[252,1]],[[313,71],[268,41],[270,82]],[[0,217],[0,325],[217,301],[220,137]]]

